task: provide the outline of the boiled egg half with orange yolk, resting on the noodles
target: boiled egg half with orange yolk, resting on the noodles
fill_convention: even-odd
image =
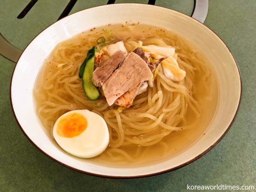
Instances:
[[[61,115],[54,124],[53,137],[67,153],[82,158],[98,156],[110,142],[105,120],[87,109]]]

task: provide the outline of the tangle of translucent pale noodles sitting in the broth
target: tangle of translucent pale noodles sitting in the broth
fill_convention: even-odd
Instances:
[[[164,76],[160,66],[154,86],[137,96],[133,106],[126,109],[109,107],[103,96],[95,101],[89,100],[78,77],[87,50],[96,45],[96,40],[102,34],[88,36],[83,33],[58,44],[46,60],[34,90],[37,114],[43,126],[51,132],[55,121],[63,113],[88,109],[102,116],[110,131],[110,146],[99,158],[134,162],[143,159],[150,150],[148,146],[154,144],[158,144],[159,151],[166,153],[169,146],[163,138],[173,131],[192,128],[199,120],[200,107],[194,97],[195,76],[198,73],[205,74],[200,81],[204,82],[207,91],[210,71],[205,67],[204,59],[183,39],[158,32],[138,38],[126,36],[122,40],[128,51],[138,47],[138,40],[143,41],[143,45],[175,47],[177,61],[186,76],[183,81],[173,82]],[[116,38],[120,38],[118,32],[116,34]],[[188,111],[193,121],[187,121]],[[127,146],[133,146],[134,150],[125,151]]]

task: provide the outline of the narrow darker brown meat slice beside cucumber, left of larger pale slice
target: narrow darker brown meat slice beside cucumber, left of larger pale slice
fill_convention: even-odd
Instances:
[[[110,75],[119,67],[125,58],[125,52],[116,51],[101,67],[96,68],[92,74],[92,81],[95,86],[101,87]]]

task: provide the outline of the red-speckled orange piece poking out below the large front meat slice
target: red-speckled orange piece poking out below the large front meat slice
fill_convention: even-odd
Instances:
[[[115,101],[115,104],[122,106],[124,108],[129,108],[133,104],[134,98],[137,95],[137,92],[138,92],[141,84],[143,84],[143,83],[139,83],[131,91],[127,91],[125,94],[123,94],[121,97],[119,97]]]

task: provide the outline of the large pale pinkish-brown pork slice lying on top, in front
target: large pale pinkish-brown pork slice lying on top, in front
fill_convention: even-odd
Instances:
[[[122,65],[102,85],[102,90],[109,106],[111,106],[124,93],[131,91],[141,82],[152,78],[153,74],[146,62],[137,54],[131,52],[124,59]]]

